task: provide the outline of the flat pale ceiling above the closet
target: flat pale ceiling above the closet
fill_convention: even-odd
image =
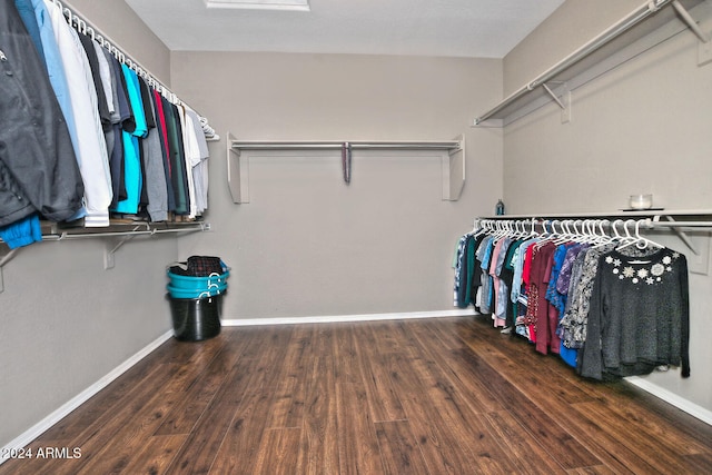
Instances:
[[[309,11],[125,0],[174,51],[503,58],[564,0],[309,0]]]

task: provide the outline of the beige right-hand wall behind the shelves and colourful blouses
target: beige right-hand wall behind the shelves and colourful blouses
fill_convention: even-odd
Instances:
[[[505,58],[505,82],[517,88],[533,79],[637,6],[567,1]],[[606,13],[609,7],[614,13]],[[702,7],[695,17],[709,32],[712,4]],[[577,34],[581,31],[585,34]],[[543,48],[554,43],[561,51],[557,57]],[[696,51],[696,37],[684,32],[573,91],[571,123],[561,123],[552,102],[506,127],[507,210],[613,211],[625,208],[629,195],[639,192],[653,194],[654,205],[668,209],[712,209],[712,65],[698,67]],[[679,239],[661,239],[694,258]],[[699,246],[709,247],[709,232],[699,239]],[[646,378],[706,410],[712,410],[712,347],[706,337],[712,330],[711,284],[710,276],[691,274],[692,377],[681,379],[679,372],[671,372]]]

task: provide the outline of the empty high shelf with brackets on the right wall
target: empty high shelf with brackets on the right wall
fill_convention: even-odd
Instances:
[[[710,36],[689,12],[704,0],[646,1],[571,55],[474,119],[474,126],[502,127],[555,101],[562,122],[571,120],[571,91],[675,34],[691,29],[700,39],[700,66],[712,61]],[[671,7],[671,8],[665,8]],[[710,6],[699,9],[710,10]]]

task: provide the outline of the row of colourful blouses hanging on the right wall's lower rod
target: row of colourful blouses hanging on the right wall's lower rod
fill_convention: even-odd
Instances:
[[[558,354],[580,375],[594,379],[644,375],[662,366],[680,366],[689,377],[688,269],[682,254],[642,238],[620,241],[617,234],[602,241],[601,236],[568,231],[522,236],[503,232],[500,226],[474,229],[457,247],[459,307],[473,303],[466,291],[475,278],[467,266],[472,236],[478,239],[473,267],[486,269],[477,275],[475,307],[501,321],[504,284],[511,307],[505,326],[513,321],[513,334],[525,337],[536,352]]]

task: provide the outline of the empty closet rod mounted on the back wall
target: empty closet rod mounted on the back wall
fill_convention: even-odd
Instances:
[[[353,149],[429,149],[452,150],[462,148],[459,141],[234,141],[231,148],[238,150],[297,150],[297,149],[340,149],[349,144]]]

